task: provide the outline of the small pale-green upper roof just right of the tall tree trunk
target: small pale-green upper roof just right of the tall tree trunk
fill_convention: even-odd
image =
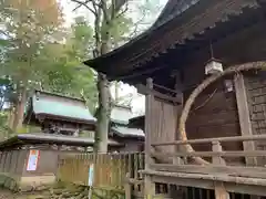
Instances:
[[[111,122],[116,124],[127,125],[132,116],[130,106],[115,105],[111,111]]]

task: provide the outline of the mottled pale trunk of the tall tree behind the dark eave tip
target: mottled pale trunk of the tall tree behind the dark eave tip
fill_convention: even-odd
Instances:
[[[111,1],[111,6],[106,1],[101,0],[96,3],[92,0],[92,12],[95,17],[94,19],[94,39],[95,49],[93,51],[93,56],[100,56],[109,52],[110,43],[110,30],[113,25],[113,21],[117,17],[120,9],[125,4],[127,0],[114,0]],[[98,91],[99,91],[99,108],[96,111],[98,115],[98,126],[95,132],[95,153],[106,153],[108,151],[108,137],[110,127],[110,115],[111,115],[111,94],[110,94],[110,83],[105,75],[98,74]]]

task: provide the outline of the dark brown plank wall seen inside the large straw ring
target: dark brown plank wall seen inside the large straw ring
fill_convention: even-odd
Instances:
[[[187,98],[190,91],[186,92]],[[235,92],[225,92],[223,81],[209,86],[201,94],[186,124],[188,139],[239,136]],[[195,150],[212,150],[211,145],[195,145]],[[242,143],[225,143],[223,150],[242,150]],[[227,158],[229,165],[244,163],[243,158]]]

